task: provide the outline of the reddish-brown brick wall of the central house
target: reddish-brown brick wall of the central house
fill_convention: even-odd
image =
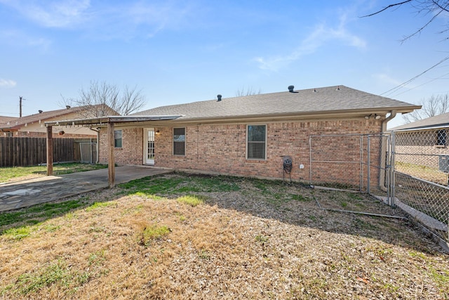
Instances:
[[[251,123],[263,124],[263,123]],[[173,127],[159,127],[156,134],[156,167],[212,171],[221,174],[282,178],[282,157],[293,158],[293,179],[309,180],[309,136],[319,134],[379,133],[382,120],[349,119],[321,122],[278,122],[267,123],[267,159],[246,159],[246,124],[194,125],[185,126],[185,156],[173,155]],[[100,162],[107,162],[106,130],[102,130]],[[345,141],[342,140],[341,143]],[[142,129],[123,129],[123,148],[116,149],[117,164],[142,164]],[[339,143],[339,141],[335,141]],[[336,153],[342,159],[353,155],[351,145],[347,150]],[[336,148],[342,149],[342,148]],[[299,165],[304,164],[304,169]],[[337,166],[323,169],[333,176],[347,176]],[[326,177],[326,176],[323,176]],[[359,177],[355,176],[356,184]]]

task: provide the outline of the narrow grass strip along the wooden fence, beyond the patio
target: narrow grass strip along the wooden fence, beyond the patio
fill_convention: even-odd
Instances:
[[[67,164],[53,164],[53,174],[70,174],[105,168],[107,168],[107,164],[80,164],[76,162]],[[46,172],[47,166],[0,168],[0,183],[43,177],[46,176]]]

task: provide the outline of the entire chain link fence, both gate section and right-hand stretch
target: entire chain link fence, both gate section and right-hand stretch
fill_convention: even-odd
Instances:
[[[447,130],[310,136],[310,184],[368,193],[448,243]]]

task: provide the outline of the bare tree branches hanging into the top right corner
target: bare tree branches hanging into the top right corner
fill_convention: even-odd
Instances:
[[[386,6],[379,11],[376,11],[375,13],[370,13],[369,15],[363,15],[364,17],[371,17],[373,15],[377,15],[378,13],[382,13],[383,11],[387,11],[388,9],[392,8],[398,8],[403,5],[410,5],[413,8],[416,9],[417,14],[424,15],[427,17],[426,22],[422,26],[420,26],[415,32],[412,34],[408,34],[405,37],[403,37],[402,41],[406,41],[407,39],[410,39],[411,37],[414,37],[417,34],[420,34],[426,27],[428,27],[431,22],[434,22],[438,16],[443,16],[445,13],[449,13],[449,0],[406,0],[401,2],[396,2],[393,4],[389,4],[389,6]],[[446,24],[447,29],[441,30],[441,32],[438,32],[440,34],[445,34],[449,32],[449,22]],[[449,39],[449,37],[445,37],[444,39]]]

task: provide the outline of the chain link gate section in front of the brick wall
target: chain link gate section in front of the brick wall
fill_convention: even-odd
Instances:
[[[391,136],[310,136],[310,184],[368,193],[394,205]]]

